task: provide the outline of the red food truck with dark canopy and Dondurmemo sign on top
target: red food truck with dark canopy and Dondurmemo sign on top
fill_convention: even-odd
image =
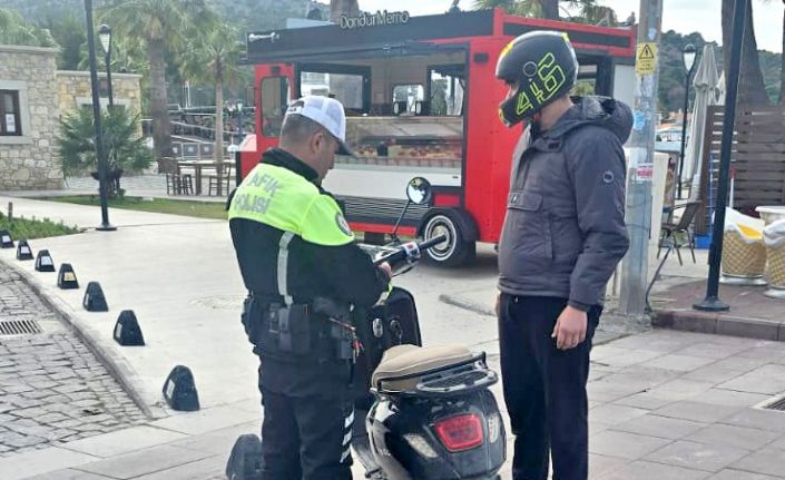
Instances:
[[[340,23],[254,32],[244,61],[255,66],[256,133],[241,153],[242,175],[277,145],[286,105],[330,95],[346,109],[355,157],[337,157],[324,187],[355,232],[392,231],[415,176],[433,185],[428,205],[409,208],[400,233],[448,242],[431,261],[459,265],[477,242],[495,243],[504,221],[511,153],[521,127],[498,117],[507,95],[495,79],[500,51],[531,30],[569,35],[578,92],[631,104],[635,31],[521,18],[501,9],[410,17],[363,13]]]

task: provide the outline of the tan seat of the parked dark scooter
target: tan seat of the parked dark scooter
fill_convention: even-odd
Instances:
[[[382,355],[371,378],[372,386],[377,386],[381,381],[382,390],[412,391],[419,381],[418,376],[412,375],[449,368],[471,357],[472,353],[463,345],[396,345]]]

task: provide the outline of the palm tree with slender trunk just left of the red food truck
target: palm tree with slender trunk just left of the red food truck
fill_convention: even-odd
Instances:
[[[220,178],[224,159],[224,86],[242,76],[237,59],[243,50],[237,32],[219,23],[207,32],[193,33],[193,40],[181,53],[183,77],[193,82],[215,86],[215,161]]]

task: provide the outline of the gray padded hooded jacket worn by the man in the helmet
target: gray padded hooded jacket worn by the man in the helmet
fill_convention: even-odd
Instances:
[[[499,243],[499,290],[588,310],[629,245],[625,153],[630,109],[586,97],[547,131],[529,127],[512,157]]]

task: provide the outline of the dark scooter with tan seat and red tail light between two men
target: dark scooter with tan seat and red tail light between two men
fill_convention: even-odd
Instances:
[[[445,241],[401,243],[395,232],[411,204],[425,204],[431,186],[412,179],[392,244],[364,245],[393,275],[410,271],[425,249]],[[507,457],[504,424],[489,386],[498,382],[485,353],[462,345],[423,347],[414,297],[394,287],[357,329],[352,447],[373,480],[499,480]],[[369,389],[370,388],[370,389]],[[226,468],[230,480],[258,479],[261,441],[241,437]]]

